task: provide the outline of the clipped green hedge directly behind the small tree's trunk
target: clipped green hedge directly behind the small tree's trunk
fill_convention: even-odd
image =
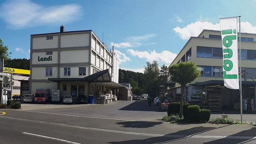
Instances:
[[[189,103],[183,104],[183,116],[184,118],[187,117],[187,107],[190,106]],[[171,116],[172,114],[180,114],[180,102],[171,102],[168,105],[168,116]]]

